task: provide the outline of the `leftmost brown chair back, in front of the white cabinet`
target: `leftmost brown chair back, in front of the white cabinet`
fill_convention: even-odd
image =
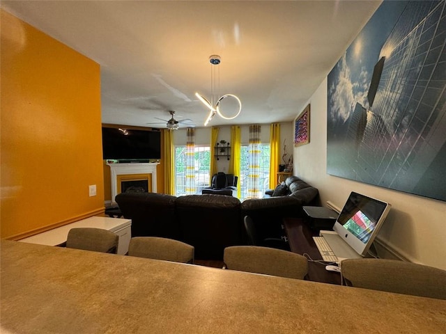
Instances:
[[[101,228],[72,228],[68,231],[68,248],[114,253],[118,250],[118,235]]]

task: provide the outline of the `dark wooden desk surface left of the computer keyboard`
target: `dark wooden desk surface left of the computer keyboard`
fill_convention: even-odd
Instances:
[[[322,260],[313,237],[317,230],[311,230],[301,218],[284,218],[286,235],[291,251],[303,255],[307,253],[313,260]],[[308,278],[314,282],[341,284],[341,274],[325,270],[325,264],[308,262]]]

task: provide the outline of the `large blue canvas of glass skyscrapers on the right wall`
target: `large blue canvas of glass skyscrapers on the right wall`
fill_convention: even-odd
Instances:
[[[327,173],[446,201],[446,1],[383,1],[328,75]]]

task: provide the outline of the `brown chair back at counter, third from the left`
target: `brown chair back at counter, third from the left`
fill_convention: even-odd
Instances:
[[[226,269],[264,273],[302,280],[308,273],[307,259],[297,253],[259,246],[224,248]]]

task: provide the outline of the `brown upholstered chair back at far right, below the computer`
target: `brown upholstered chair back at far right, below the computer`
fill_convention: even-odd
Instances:
[[[384,259],[349,259],[341,262],[346,285],[397,294],[446,299],[446,271]]]

